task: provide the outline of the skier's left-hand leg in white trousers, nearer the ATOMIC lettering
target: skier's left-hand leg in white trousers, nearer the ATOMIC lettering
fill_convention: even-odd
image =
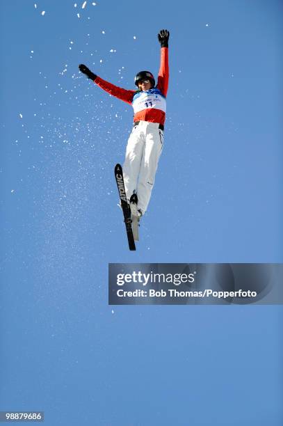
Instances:
[[[131,198],[137,189],[138,173],[140,173],[140,161],[143,155],[145,135],[140,125],[133,128],[126,148],[126,157],[123,165],[124,187],[127,199]]]

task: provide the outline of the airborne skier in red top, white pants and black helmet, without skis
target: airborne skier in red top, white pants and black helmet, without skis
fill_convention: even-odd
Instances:
[[[114,86],[91,72],[86,65],[79,70],[100,88],[131,104],[134,108],[134,128],[127,143],[123,166],[124,187],[128,202],[137,196],[136,215],[139,219],[146,210],[154,186],[155,173],[163,148],[163,129],[168,91],[168,30],[161,30],[158,40],[161,44],[161,60],[157,84],[152,72],[136,74],[138,90],[126,90]]]

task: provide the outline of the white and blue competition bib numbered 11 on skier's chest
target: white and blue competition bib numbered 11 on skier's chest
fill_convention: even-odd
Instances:
[[[161,109],[161,111],[166,112],[166,98],[157,88],[136,93],[131,104],[133,105],[135,114],[143,111],[143,109],[150,108]]]

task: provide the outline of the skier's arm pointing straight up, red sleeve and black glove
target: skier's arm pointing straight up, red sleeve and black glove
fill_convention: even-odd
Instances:
[[[160,52],[160,68],[159,76],[157,80],[157,88],[163,93],[164,96],[168,92],[168,81],[169,81],[169,65],[168,65],[168,40],[170,33],[168,30],[161,30],[158,34],[158,39],[161,44]]]

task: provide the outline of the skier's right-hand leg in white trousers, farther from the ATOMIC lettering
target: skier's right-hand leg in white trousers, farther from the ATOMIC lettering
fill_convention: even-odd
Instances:
[[[154,186],[155,173],[163,148],[163,131],[156,123],[149,123],[145,135],[145,146],[142,162],[140,164],[140,175],[138,178],[138,209],[143,213],[147,210],[152,188]]]

